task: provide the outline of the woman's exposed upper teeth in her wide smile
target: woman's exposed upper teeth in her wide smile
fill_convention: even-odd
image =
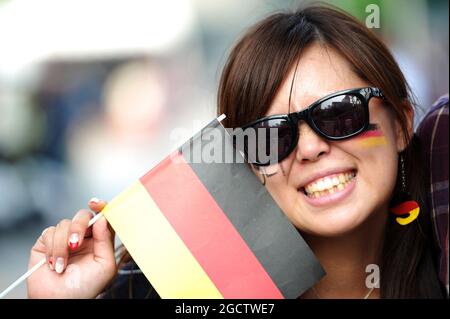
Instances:
[[[343,190],[355,176],[355,172],[347,172],[333,177],[321,178],[313,183],[309,183],[304,189],[307,195],[313,198],[334,194],[337,191]]]

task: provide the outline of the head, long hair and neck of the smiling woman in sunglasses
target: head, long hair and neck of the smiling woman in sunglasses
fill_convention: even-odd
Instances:
[[[348,90],[369,87],[382,96],[367,101],[368,116],[360,123]],[[345,108],[350,101],[347,108],[354,109],[321,126],[323,101],[335,96],[342,98],[332,102]],[[327,272],[303,298],[443,296],[422,200],[411,101],[387,47],[332,7],[274,14],[232,50],[218,96],[218,113],[227,115],[228,127],[271,127],[270,119],[282,114],[286,123],[306,114],[298,124],[294,120],[295,130],[279,130],[279,144],[289,147],[277,149],[276,163],[253,162],[255,174]],[[348,123],[353,126],[342,129]],[[283,125],[278,120],[276,127]],[[399,158],[406,162],[402,171]],[[402,191],[421,207],[418,218],[404,226],[389,213]],[[380,269],[374,285],[380,289],[366,284],[366,267],[373,264]]]

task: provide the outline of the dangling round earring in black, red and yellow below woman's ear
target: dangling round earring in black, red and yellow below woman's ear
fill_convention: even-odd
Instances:
[[[408,225],[413,222],[419,216],[420,207],[419,204],[411,199],[411,195],[406,190],[406,173],[405,173],[405,160],[403,155],[400,154],[400,178],[401,178],[401,192],[398,196],[397,204],[390,208],[390,211],[399,217],[395,218],[400,225]],[[407,216],[403,216],[407,215]]]

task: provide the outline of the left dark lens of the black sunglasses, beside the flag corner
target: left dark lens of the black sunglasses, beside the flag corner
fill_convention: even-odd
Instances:
[[[290,122],[284,118],[263,120],[245,129],[240,142],[247,161],[259,165],[278,163],[288,155],[293,133]]]

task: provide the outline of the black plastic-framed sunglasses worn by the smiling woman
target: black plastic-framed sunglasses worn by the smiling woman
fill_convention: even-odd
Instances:
[[[281,162],[295,149],[300,120],[328,140],[353,137],[369,126],[372,97],[384,99],[375,87],[350,89],[327,95],[300,112],[260,118],[241,128],[243,131],[236,135],[240,143],[235,140],[235,146],[244,152],[249,163],[267,166]]]

